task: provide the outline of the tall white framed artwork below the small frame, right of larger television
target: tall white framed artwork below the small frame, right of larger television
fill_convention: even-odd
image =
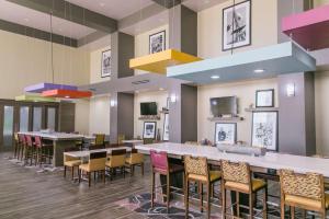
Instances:
[[[251,143],[277,151],[277,112],[252,113]]]

